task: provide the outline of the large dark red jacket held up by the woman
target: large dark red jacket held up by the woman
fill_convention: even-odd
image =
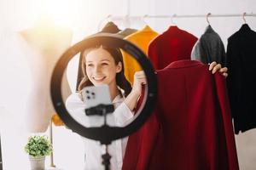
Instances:
[[[225,79],[180,60],[157,71],[153,114],[129,137],[123,170],[239,169]]]

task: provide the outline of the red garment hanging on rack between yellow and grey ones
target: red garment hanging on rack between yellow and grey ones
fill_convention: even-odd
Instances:
[[[190,59],[197,37],[177,26],[170,26],[167,31],[154,38],[148,47],[148,58],[155,70],[165,68],[172,61]]]

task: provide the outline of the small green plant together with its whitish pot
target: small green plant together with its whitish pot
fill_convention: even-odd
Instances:
[[[29,155],[32,170],[44,170],[45,156],[52,152],[52,144],[46,136],[30,136],[25,151]]]

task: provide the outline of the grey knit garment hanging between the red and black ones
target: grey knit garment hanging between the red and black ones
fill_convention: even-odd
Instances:
[[[218,33],[212,29],[212,26],[207,26],[205,33],[195,43],[191,52],[191,59],[199,60],[204,64],[216,61],[222,66],[226,65],[224,43]]]

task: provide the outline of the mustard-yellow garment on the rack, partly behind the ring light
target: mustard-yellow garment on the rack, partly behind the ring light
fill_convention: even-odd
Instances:
[[[148,55],[148,46],[150,42],[157,37],[159,34],[153,31],[149,26],[145,26],[142,30],[132,33],[125,37],[125,40],[133,42],[138,48],[143,50]],[[133,76],[136,71],[141,71],[142,68],[138,64],[137,60],[132,58],[130,54],[122,51],[125,64],[125,77],[131,84],[133,83]]]

